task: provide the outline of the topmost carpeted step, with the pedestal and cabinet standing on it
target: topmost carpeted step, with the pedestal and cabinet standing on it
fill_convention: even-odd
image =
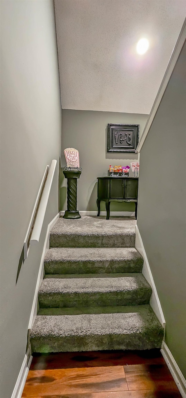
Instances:
[[[136,220],[105,220],[101,217],[60,218],[50,231],[50,247],[135,247],[135,224]]]

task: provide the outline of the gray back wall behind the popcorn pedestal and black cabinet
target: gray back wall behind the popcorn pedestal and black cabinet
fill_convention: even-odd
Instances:
[[[138,154],[107,153],[108,123],[137,123],[140,135],[143,132],[148,115],[133,113],[62,110],[62,160],[65,166],[63,150],[73,147],[79,150],[80,166],[83,169],[78,181],[79,210],[97,210],[97,177],[107,176],[109,165],[129,166],[132,160],[138,160]],[[132,172],[131,172],[131,175]],[[66,209],[66,180],[61,175],[60,208]],[[101,203],[105,210],[105,203]],[[134,211],[134,203],[111,203],[111,211]]]

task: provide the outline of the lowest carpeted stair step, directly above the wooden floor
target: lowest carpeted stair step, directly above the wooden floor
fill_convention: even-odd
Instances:
[[[40,353],[144,350],[160,348],[163,334],[162,326],[147,304],[123,306],[119,313],[38,315],[30,341],[32,351]]]

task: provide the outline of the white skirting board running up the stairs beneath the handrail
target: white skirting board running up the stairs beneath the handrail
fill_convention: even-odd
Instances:
[[[32,329],[32,326],[33,326],[34,321],[36,319],[37,305],[38,305],[38,290],[40,289],[40,286],[41,286],[42,281],[43,281],[44,259],[45,259],[45,256],[47,254],[47,251],[49,250],[50,230],[54,226],[54,224],[57,222],[58,219],[59,219],[59,213],[57,213],[57,215],[54,217],[54,219],[48,224],[46,238],[45,238],[45,243],[44,243],[44,248],[43,248],[43,253],[42,253],[42,258],[41,258],[41,262],[40,262],[40,268],[39,268],[39,272],[38,272],[38,279],[37,279],[37,283],[36,283],[34,301],[33,301],[33,304],[32,304],[32,310],[31,310],[30,320],[29,320],[29,324],[28,324],[28,330]]]

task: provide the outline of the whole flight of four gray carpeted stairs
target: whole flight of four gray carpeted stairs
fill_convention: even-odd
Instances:
[[[136,220],[60,218],[50,232],[32,351],[160,348]]]

